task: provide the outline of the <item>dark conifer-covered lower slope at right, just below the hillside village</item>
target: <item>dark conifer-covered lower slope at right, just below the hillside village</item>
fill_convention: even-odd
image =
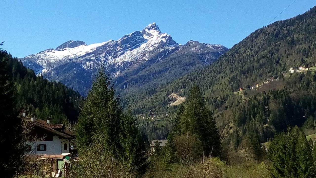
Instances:
[[[249,141],[260,156],[260,143],[289,127],[298,126],[306,135],[311,134],[316,117],[315,81],[315,71],[282,75],[257,91],[241,91],[240,96],[217,105],[222,144],[240,150]]]

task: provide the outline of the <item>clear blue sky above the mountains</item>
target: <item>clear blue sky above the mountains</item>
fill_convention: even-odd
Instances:
[[[167,1],[14,1],[2,0],[0,41],[13,56],[24,57],[68,40],[87,44],[117,40],[156,22],[178,43],[189,40],[231,48],[265,26],[294,0]],[[297,0],[276,20],[316,5]]]

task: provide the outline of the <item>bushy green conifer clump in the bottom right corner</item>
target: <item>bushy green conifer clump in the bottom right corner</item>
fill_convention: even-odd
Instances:
[[[297,126],[277,135],[269,147],[270,174],[276,178],[312,178],[315,176],[310,146]]]

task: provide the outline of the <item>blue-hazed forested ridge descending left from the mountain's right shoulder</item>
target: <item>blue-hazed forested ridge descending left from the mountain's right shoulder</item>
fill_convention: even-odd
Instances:
[[[125,108],[148,98],[175,79],[216,61],[226,50],[221,45],[188,41],[170,54],[156,56],[112,79]],[[160,58],[160,60],[158,60]],[[137,97],[136,97],[137,96]]]

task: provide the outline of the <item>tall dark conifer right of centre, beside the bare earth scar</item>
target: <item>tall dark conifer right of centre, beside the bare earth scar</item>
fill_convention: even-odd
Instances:
[[[212,112],[205,107],[198,86],[193,86],[184,107],[180,107],[172,136],[191,135],[202,143],[204,156],[221,156],[221,142]],[[189,143],[190,144],[190,143]]]

